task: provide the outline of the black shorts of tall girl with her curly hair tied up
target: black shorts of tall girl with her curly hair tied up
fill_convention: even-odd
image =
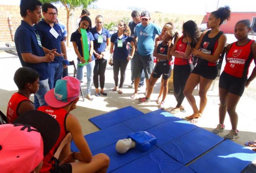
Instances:
[[[200,63],[200,64],[196,64],[196,67],[193,69],[191,73],[195,73],[206,79],[214,80],[218,75],[218,67],[208,66],[207,64]]]

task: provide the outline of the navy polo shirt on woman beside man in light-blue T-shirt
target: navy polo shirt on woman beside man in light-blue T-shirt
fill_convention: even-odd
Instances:
[[[118,40],[122,40],[123,42],[123,47],[117,47],[117,41]],[[114,43],[114,54],[113,54],[113,58],[114,59],[118,59],[118,60],[126,60],[127,56],[128,56],[128,51],[126,48],[126,45],[128,42],[133,41],[132,37],[128,37],[127,35],[123,35],[122,38],[118,38],[117,33],[114,33],[111,38],[110,41],[112,43]]]

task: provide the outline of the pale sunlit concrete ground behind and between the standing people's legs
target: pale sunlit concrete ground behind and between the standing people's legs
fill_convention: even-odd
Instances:
[[[75,60],[72,48],[68,48],[68,59]],[[13,75],[17,68],[21,67],[20,61],[16,56],[7,54],[5,52],[0,52],[0,110],[6,113],[7,104],[11,95],[17,92],[17,87],[13,82]],[[73,68],[69,67],[69,72],[73,73]],[[143,113],[148,113],[153,110],[157,110],[158,106],[155,102],[157,100],[158,91],[160,87],[160,80],[156,83],[154,88],[154,93],[151,95],[151,102],[138,105],[137,100],[130,98],[133,94],[134,89],[129,88],[128,85],[131,83],[130,76],[130,63],[127,66],[126,70],[126,79],[123,87],[123,94],[118,94],[117,92],[112,92],[114,87],[113,79],[113,70],[112,67],[107,65],[105,73],[105,91],[108,95],[95,97],[93,101],[85,99],[85,101],[78,101],[77,109],[72,111],[72,114],[76,115],[79,119],[82,130],[84,134],[89,134],[91,132],[98,131],[99,129],[94,126],[91,122],[88,121],[89,118],[95,117],[113,111],[125,106],[133,106],[138,110],[141,110]],[[86,81],[86,78],[84,79]],[[253,87],[253,86],[249,86]],[[82,89],[86,95],[86,83],[82,84]],[[95,93],[94,86],[92,87],[92,94]],[[139,91],[139,96],[144,97],[145,87]],[[196,93],[196,91],[195,91]],[[199,122],[196,124],[199,127],[205,128],[206,130],[212,131],[213,128],[218,125],[218,109],[219,109],[219,97],[218,97],[218,81],[216,81],[214,90],[209,91],[208,93],[208,103],[202,118],[199,119]],[[255,94],[255,93],[254,93]],[[196,102],[199,103],[199,96],[195,95]],[[33,100],[33,97],[31,97]],[[82,100],[82,99],[80,99]],[[248,96],[241,97],[239,104],[237,105],[237,113],[239,115],[239,124],[238,129],[240,131],[240,138],[236,139],[234,142],[244,145],[245,142],[249,140],[256,140],[256,113],[255,113],[255,98],[250,98]],[[176,105],[176,100],[173,94],[168,93],[166,98],[167,110],[171,109]],[[188,104],[186,98],[183,102],[184,108],[187,110],[187,113],[177,113],[177,117],[185,117],[192,114],[192,109]],[[231,129],[231,124],[229,117],[225,118],[226,130],[220,134],[224,136]]]

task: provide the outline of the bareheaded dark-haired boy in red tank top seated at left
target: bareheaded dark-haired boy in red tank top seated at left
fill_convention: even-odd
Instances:
[[[34,104],[29,100],[31,94],[37,93],[39,89],[39,75],[29,67],[17,69],[13,80],[19,91],[10,98],[7,106],[7,120],[12,123],[20,114],[34,110]]]

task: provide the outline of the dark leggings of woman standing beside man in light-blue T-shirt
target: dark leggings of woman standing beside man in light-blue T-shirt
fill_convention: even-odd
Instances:
[[[119,88],[123,87],[123,83],[125,81],[125,70],[127,67],[128,61],[126,59],[113,59],[113,71],[114,71],[114,81],[115,81],[115,87],[118,85],[118,74],[119,74],[119,69],[120,69],[120,85]]]

